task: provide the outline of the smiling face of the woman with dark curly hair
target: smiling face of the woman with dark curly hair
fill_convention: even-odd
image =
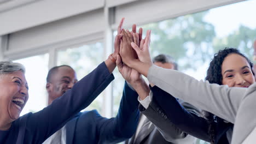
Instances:
[[[222,63],[222,84],[229,87],[249,87],[255,82],[246,58],[232,53]]]

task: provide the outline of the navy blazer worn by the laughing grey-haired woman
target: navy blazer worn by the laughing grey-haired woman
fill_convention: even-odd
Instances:
[[[69,89],[43,110],[27,113],[16,119],[9,130],[0,130],[0,143],[43,143],[79,111],[90,105],[113,79],[114,76],[109,73],[106,64],[101,63],[90,74],[75,83],[72,89]],[[81,127],[79,123],[78,120],[77,126]],[[100,126],[97,125],[97,127]],[[80,133],[83,132],[80,131]],[[90,136],[93,134],[90,133]]]

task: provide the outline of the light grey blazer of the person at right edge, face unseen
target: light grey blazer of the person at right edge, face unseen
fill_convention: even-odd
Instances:
[[[174,97],[234,123],[232,144],[240,144],[249,139],[248,136],[256,136],[256,83],[249,88],[229,88],[198,81],[179,71],[156,65],[149,68],[147,78]]]

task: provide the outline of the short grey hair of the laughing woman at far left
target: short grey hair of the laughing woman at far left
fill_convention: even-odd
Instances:
[[[11,61],[0,62],[0,75],[14,73],[19,70],[22,71],[22,73],[25,73],[26,71],[24,65],[20,63],[14,63]]]

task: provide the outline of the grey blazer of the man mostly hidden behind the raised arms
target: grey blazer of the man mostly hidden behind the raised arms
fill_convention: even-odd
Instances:
[[[200,111],[197,109],[195,110],[194,106],[184,103],[182,100],[181,104],[188,111],[191,110],[193,113],[196,111],[196,113],[200,115]],[[125,141],[125,144],[192,144],[195,142],[195,137],[184,133],[170,121],[168,121],[167,117],[163,112],[161,112],[161,108],[155,103],[154,100],[151,101],[147,109],[139,104],[139,111],[141,111],[141,115],[145,115],[153,124],[150,125],[147,134],[144,135],[144,137],[136,137],[136,139],[139,139],[137,143],[135,143],[135,135],[133,135],[131,139]],[[154,124],[158,125],[158,127],[156,127]]]

